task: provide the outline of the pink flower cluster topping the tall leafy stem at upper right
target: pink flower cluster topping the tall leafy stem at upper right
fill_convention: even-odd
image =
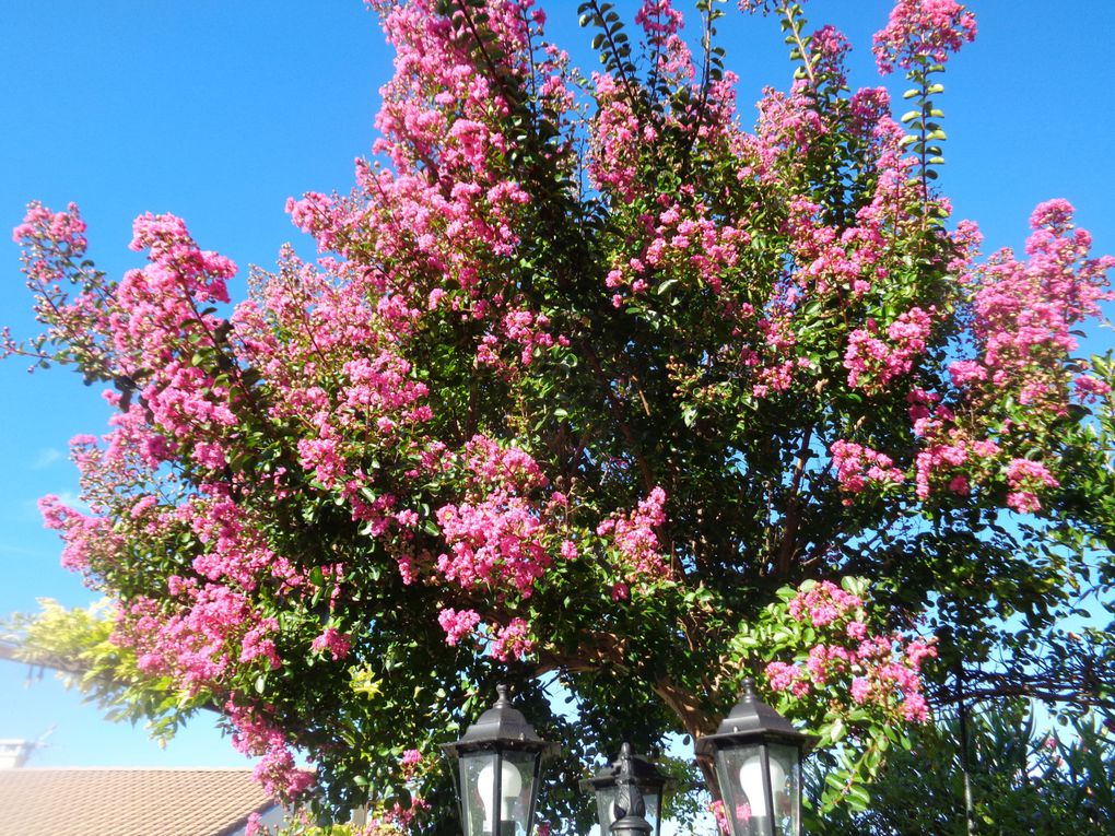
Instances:
[[[898,0],[886,27],[875,33],[875,61],[886,75],[898,65],[944,64],[964,41],[976,40],[976,16],[957,0]]]

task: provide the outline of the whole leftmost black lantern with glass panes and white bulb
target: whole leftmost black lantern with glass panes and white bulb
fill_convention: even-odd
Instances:
[[[554,748],[512,708],[507,687],[500,699],[442,749],[457,761],[457,794],[465,836],[531,836],[542,756]]]

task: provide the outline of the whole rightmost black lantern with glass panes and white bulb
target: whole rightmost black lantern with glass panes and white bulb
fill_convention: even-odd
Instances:
[[[744,697],[715,735],[697,741],[711,755],[733,836],[799,836],[802,757],[815,739],[755,696],[744,680]]]

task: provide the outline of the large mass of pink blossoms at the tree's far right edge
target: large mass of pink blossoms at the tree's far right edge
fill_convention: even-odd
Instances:
[[[1063,200],[1040,204],[1030,218],[1028,260],[1001,251],[972,266],[978,233],[964,230],[967,255],[953,265],[971,299],[976,354],[952,361],[948,398],[913,389],[909,395],[913,430],[921,439],[914,459],[919,499],[938,488],[968,496],[981,486],[1006,483],[1006,505],[1018,513],[1041,509],[1040,494],[1057,486],[1050,469],[1021,458],[1018,439],[1040,437],[1068,414],[1073,398],[1087,401],[1107,386],[1074,359],[1074,329],[1099,313],[1109,299],[1106,272],[1115,259],[1089,255],[1092,237],[1074,227],[1073,207]],[[998,422],[1012,404],[1024,412]]]

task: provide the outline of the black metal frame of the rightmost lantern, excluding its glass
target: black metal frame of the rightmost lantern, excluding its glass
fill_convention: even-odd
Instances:
[[[711,757],[716,766],[716,775],[720,781],[720,798],[725,804],[725,816],[733,829],[733,836],[799,836],[802,833],[802,760],[816,745],[817,738],[798,731],[791,722],[763,702],[755,694],[755,680],[748,677],[744,680],[744,696],[736,707],[724,719],[712,735],[706,735],[697,740],[697,755]],[[794,751],[795,786],[791,799],[792,811],[788,827],[776,825],[775,788],[772,786],[772,746],[787,747]],[[739,789],[748,798],[753,795],[741,786],[734,774],[735,767],[729,766],[729,758],[748,749],[757,750],[763,777],[763,806],[767,815],[756,816],[745,820],[736,810],[728,809],[734,804],[735,789]],[[730,786],[735,781],[736,787]],[[729,786],[724,786],[729,784]],[[754,790],[753,790],[754,791]],[[756,799],[758,800],[758,799]],[[757,806],[757,805],[756,805]],[[756,824],[758,819],[762,822]]]

